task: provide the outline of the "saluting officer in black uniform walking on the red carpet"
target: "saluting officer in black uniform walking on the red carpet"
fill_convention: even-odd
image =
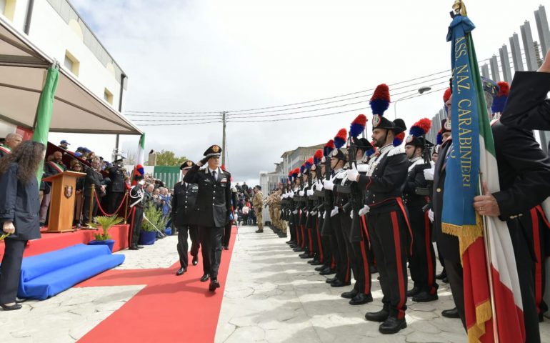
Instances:
[[[209,290],[220,287],[218,269],[221,260],[221,238],[224,227],[231,216],[231,174],[219,167],[221,148],[212,145],[204,151],[204,158],[192,166],[184,177],[184,182],[197,184],[196,224],[202,246],[204,275],[202,282],[210,279]],[[206,168],[199,170],[203,165]]]

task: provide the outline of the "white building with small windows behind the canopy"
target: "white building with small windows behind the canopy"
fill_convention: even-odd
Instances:
[[[111,149],[115,144],[115,133],[136,134],[136,131],[139,131],[119,114],[125,99],[126,74],[101,45],[101,42],[94,36],[90,27],[81,19],[69,1],[0,0],[0,19],[9,24],[11,29],[14,29],[22,39],[28,40],[42,55],[58,61],[69,79],[74,79],[76,83],[92,94],[91,97],[94,98],[94,101],[103,103],[100,104],[101,106],[110,106],[113,114],[120,117],[113,119],[109,114],[111,118],[108,118],[107,121],[119,121],[123,126],[130,128],[128,132],[117,132],[116,128],[107,126],[91,128],[86,131],[78,129],[75,124],[72,124],[72,126],[52,127],[51,132],[111,134],[112,145],[110,142],[108,144]],[[76,103],[76,105],[79,104],[81,103]],[[56,107],[54,106],[54,115],[55,111]],[[105,112],[105,109],[101,111]],[[110,110],[107,109],[107,111]],[[0,111],[0,137],[16,130],[19,121],[3,120],[13,119],[13,116],[13,114],[8,116]],[[93,119],[90,119],[89,122],[91,121]],[[59,134],[51,134],[50,141],[58,143],[56,141],[58,136]],[[94,139],[98,138],[94,137]]]

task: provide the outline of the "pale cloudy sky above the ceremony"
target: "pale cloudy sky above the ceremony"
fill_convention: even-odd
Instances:
[[[128,74],[125,109],[130,111],[221,111],[290,104],[450,67],[445,37],[452,0],[71,2]],[[533,11],[539,4],[540,0],[466,1],[477,26],[474,42],[479,59],[496,53],[526,19],[536,36]],[[399,101],[398,114],[408,126],[431,117],[442,105],[442,94]],[[399,96],[392,100],[396,99]],[[393,109],[392,105],[386,115],[393,118]],[[257,182],[258,172],[271,171],[283,151],[324,143],[338,129],[348,129],[361,112],[370,127],[369,110],[274,123],[230,122],[228,168],[235,181]],[[162,120],[166,118],[154,122]],[[171,149],[198,160],[207,146],[221,144],[221,124],[141,127],[147,151]],[[135,150],[138,139],[121,141],[124,149]],[[88,147],[94,144],[101,144],[103,154],[108,154],[114,140]]]

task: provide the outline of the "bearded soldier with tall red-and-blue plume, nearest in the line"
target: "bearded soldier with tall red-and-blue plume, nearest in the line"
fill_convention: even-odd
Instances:
[[[389,106],[389,89],[386,84],[376,87],[370,101],[374,117],[372,138],[379,148],[369,172],[361,175],[355,169],[347,173],[350,181],[366,189],[366,205],[369,207],[367,227],[380,273],[380,285],[384,297],[383,309],[367,312],[369,321],[382,322],[382,334],[395,334],[406,327],[406,234],[410,232],[401,187],[405,183],[409,160],[402,146],[393,145],[396,134],[406,130],[403,120],[382,116]]]

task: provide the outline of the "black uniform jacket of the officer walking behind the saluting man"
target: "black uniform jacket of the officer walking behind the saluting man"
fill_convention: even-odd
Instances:
[[[198,184],[186,184],[178,182],[174,185],[174,196],[172,197],[172,222],[182,227],[192,225],[196,222],[196,196],[199,193]]]

